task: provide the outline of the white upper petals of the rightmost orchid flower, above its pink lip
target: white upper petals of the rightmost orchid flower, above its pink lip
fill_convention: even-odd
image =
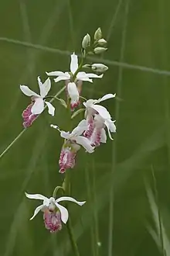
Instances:
[[[104,106],[97,105],[97,103],[103,102],[106,99],[114,98],[116,94],[107,94],[100,99],[88,99],[87,102],[83,102],[83,105],[86,107],[85,115],[93,115],[93,113],[98,112],[101,117],[104,119],[110,119],[110,113],[107,111]]]

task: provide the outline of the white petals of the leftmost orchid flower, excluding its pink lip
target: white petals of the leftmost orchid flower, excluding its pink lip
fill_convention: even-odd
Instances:
[[[51,88],[51,81],[49,78],[46,79],[44,83],[40,80],[38,77],[38,84],[39,84],[39,91],[40,95],[38,95],[36,92],[33,92],[31,89],[29,89],[26,85],[20,85],[20,89],[22,92],[33,98],[34,104],[32,106],[31,112],[33,115],[39,115],[45,108],[44,103],[46,103],[46,106],[49,109],[49,114],[54,116],[55,108],[50,102],[46,102],[44,98],[48,94],[50,88]]]

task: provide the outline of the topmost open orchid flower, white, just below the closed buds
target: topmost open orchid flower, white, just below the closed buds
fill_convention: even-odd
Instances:
[[[46,72],[49,76],[56,76],[54,81],[66,81],[66,89],[68,95],[71,99],[71,109],[74,109],[76,106],[79,105],[79,97],[81,91],[81,85],[77,86],[78,81],[90,81],[93,82],[91,78],[102,78],[103,74],[97,75],[93,73],[86,73],[83,71],[77,72],[79,64],[78,64],[78,57],[76,54],[71,54],[71,62],[70,62],[70,72],[62,72],[62,71],[53,71],[53,72]],[[78,88],[77,88],[78,87]]]

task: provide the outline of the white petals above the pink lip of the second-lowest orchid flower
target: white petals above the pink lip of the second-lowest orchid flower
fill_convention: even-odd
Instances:
[[[54,126],[51,124],[51,127],[58,129],[58,126]],[[94,147],[90,145],[90,140],[88,140],[86,137],[81,136],[81,134],[87,130],[87,120],[83,119],[80,121],[78,126],[70,132],[65,132],[63,130],[59,130],[60,136],[63,137],[66,140],[70,140],[73,144],[79,144],[81,145],[85,150],[87,150],[88,153],[93,153]]]

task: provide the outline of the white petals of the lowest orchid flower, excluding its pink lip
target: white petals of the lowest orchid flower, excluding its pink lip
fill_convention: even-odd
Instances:
[[[45,209],[49,209],[49,210],[53,211],[56,208],[56,209],[59,209],[59,212],[61,213],[61,220],[63,221],[63,223],[67,222],[67,220],[69,218],[69,213],[64,206],[61,206],[59,204],[59,202],[62,202],[62,201],[76,202],[76,204],[79,206],[83,206],[83,204],[86,202],[86,201],[78,202],[78,201],[76,201],[76,199],[73,199],[72,197],[69,197],[69,196],[62,196],[62,197],[59,197],[59,199],[54,199],[53,197],[50,197],[48,199],[44,195],[40,195],[40,194],[32,195],[32,194],[26,193],[26,197],[28,197],[29,199],[39,199],[39,200],[43,201],[42,205],[38,206],[35,209],[34,214],[30,220],[32,220],[36,216],[36,214],[39,213],[40,210],[43,211]]]

